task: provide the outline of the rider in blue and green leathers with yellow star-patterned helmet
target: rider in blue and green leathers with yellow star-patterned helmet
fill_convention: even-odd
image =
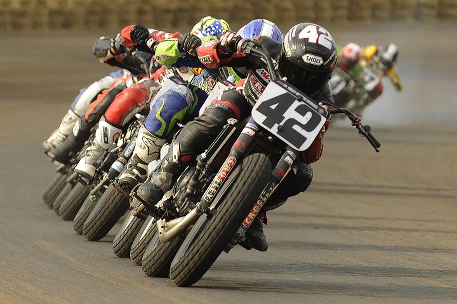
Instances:
[[[115,187],[123,192],[130,193],[138,182],[147,177],[147,166],[152,160],[159,157],[159,151],[165,144],[170,132],[177,123],[185,124],[194,119],[202,104],[213,90],[218,80],[223,79],[218,69],[208,69],[196,56],[191,56],[182,50],[184,45],[191,46],[207,39],[215,39],[220,32],[230,27],[223,19],[211,16],[203,17],[193,28],[191,35],[183,35],[179,39],[165,39],[154,45],[148,45],[148,30],[136,25],[138,34],[131,34],[132,40],[143,47],[147,46],[154,51],[157,62],[169,67],[191,67],[198,71],[190,83],[178,84],[157,98],[152,105],[144,125],[140,128],[136,140],[133,156],[126,165],[126,169],[114,183]],[[196,45],[197,46],[197,45]]]

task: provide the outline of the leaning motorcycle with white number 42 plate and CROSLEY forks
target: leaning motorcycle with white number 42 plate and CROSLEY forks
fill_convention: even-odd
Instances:
[[[242,39],[237,49],[261,57],[272,77],[251,115],[240,122],[228,120],[177,179],[169,198],[154,208],[141,204],[137,210],[157,219],[157,232],[143,254],[143,271],[170,276],[178,286],[196,283],[222,252],[237,244],[252,249],[245,232],[329,113],[344,113],[376,151],[380,147],[370,128],[351,111],[317,104],[275,77],[271,57],[259,41]]]

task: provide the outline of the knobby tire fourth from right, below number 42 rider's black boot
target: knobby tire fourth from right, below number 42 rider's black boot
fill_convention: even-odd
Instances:
[[[143,226],[144,220],[129,212],[122,223],[121,229],[113,240],[113,252],[119,258],[130,258],[130,248],[138,232]]]

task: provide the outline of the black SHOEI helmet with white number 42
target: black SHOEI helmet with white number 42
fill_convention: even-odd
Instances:
[[[307,95],[329,81],[336,64],[336,46],[329,31],[314,23],[300,23],[287,31],[278,60],[279,74]]]

